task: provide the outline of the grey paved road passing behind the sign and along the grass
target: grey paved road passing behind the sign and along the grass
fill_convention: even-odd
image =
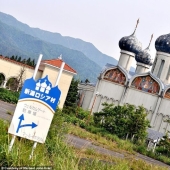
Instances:
[[[12,116],[7,114],[7,111],[14,112],[15,107],[16,107],[16,105],[0,101],[0,118],[11,121]],[[122,158],[122,159],[125,158],[125,155],[122,154],[122,153],[114,152],[114,151],[102,148],[100,146],[96,146],[96,145],[92,144],[91,141],[81,139],[81,138],[74,136],[74,135],[67,135],[67,143],[76,147],[76,148],[79,148],[79,149],[91,148],[91,149],[94,149],[101,154],[106,154],[106,155],[110,155],[110,156],[114,156],[114,157],[118,157],[118,158]],[[160,161],[156,161],[152,158],[149,158],[149,157],[141,155],[141,154],[135,155],[135,158],[136,159],[143,159],[144,161],[151,163],[151,164],[170,167],[170,166],[168,166],[168,165],[166,165],[166,164],[164,164]]]

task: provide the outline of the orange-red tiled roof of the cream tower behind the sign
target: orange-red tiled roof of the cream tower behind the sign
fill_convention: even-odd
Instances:
[[[52,59],[52,60],[43,60],[42,62],[60,68],[63,60],[61,60],[61,59]],[[66,63],[64,65],[64,70],[70,71],[72,73],[77,73],[73,68],[71,68]]]

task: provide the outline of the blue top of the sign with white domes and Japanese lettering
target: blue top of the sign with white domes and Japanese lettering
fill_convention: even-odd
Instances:
[[[25,80],[19,100],[36,99],[40,102],[43,101],[55,112],[60,95],[61,91],[58,86],[52,87],[48,76],[46,76],[37,81],[33,78]]]

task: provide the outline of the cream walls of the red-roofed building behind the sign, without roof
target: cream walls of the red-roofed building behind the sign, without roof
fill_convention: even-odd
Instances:
[[[5,76],[5,81],[8,81],[12,77],[17,77],[23,67],[24,66],[20,63],[13,62],[11,60],[0,59],[0,73],[2,73]],[[34,73],[34,68],[25,66],[24,69],[25,72],[23,75],[23,81],[25,79],[31,78]],[[58,73],[59,73],[59,68],[49,66],[49,65],[44,65],[41,63],[35,79],[37,80],[39,78],[43,78],[46,75],[48,75],[49,81],[54,86],[56,83]],[[60,108],[63,108],[73,75],[74,75],[73,73],[63,70],[58,85],[59,89],[61,90],[61,98],[59,102]]]

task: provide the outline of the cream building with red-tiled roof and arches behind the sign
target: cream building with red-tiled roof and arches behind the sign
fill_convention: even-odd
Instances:
[[[54,86],[62,62],[61,59],[42,60],[35,79],[37,80],[48,75],[49,81]],[[31,78],[34,73],[34,67],[16,62],[3,56],[0,56],[0,66],[0,86],[3,88],[12,89],[13,84],[10,83],[11,79],[18,79],[22,72],[22,82],[24,82],[25,79]],[[59,101],[60,108],[63,108],[71,80],[75,74],[76,71],[68,64],[65,64],[58,84],[59,89],[61,90],[61,98]],[[19,86],[22,86],[22,84]]]

